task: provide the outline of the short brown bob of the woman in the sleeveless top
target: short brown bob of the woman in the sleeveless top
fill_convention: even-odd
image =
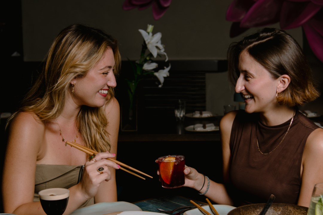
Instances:
[[[289,107],[302,105],[319,96],[314,87],[311,68],[297,41],[284,30],[263,28],[229,46],[228,74],[235,86],[240,75],[239,55],[246,50],[258,63],[265,67],[273,78],[288,75],[288,87],[277,97],[277,102]]]

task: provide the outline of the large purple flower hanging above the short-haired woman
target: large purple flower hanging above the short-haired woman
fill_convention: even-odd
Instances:
[[[226,12],[230,37],[250,27],[279,22],[281,29],[302,26],[313,53],[323,62],[323,0],[234,0]]]

